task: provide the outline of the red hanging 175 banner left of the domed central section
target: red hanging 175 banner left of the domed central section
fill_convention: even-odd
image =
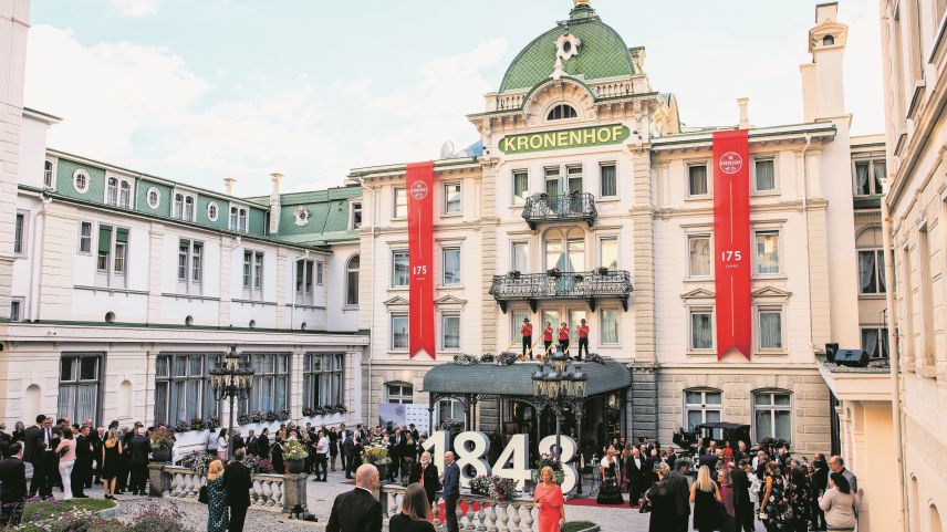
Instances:
[[[408,346],[412,358],[419,353],[435,357],[434,346],[434,163],[407,165],[408,265],[410,301]]]

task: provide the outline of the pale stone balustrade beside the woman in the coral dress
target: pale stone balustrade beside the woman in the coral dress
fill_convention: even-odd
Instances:
[[[398,484],[382,487],[385,518],[396,515],[404,501],[405,488]],[[444,499],[434,508],[434,522],[438,532],[447,526],[440,522]],[[461,493],[457,508],[457,524],[461,531],[525,532],[537,530],[535,504],[530,498],[499,501],[489,497]],[[466,510],[466,511],[465,511]]]

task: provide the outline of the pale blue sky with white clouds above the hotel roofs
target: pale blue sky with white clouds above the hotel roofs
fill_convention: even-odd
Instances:
[[[689,126],[802,122],[814,0],[592,0]],[[343,184],[351,168],[478,139],[516,54],[570,0],[33,0],[25,105],[50,147],[235,194]],[[842,0],[853,134],[884,131],[877,0]]]

